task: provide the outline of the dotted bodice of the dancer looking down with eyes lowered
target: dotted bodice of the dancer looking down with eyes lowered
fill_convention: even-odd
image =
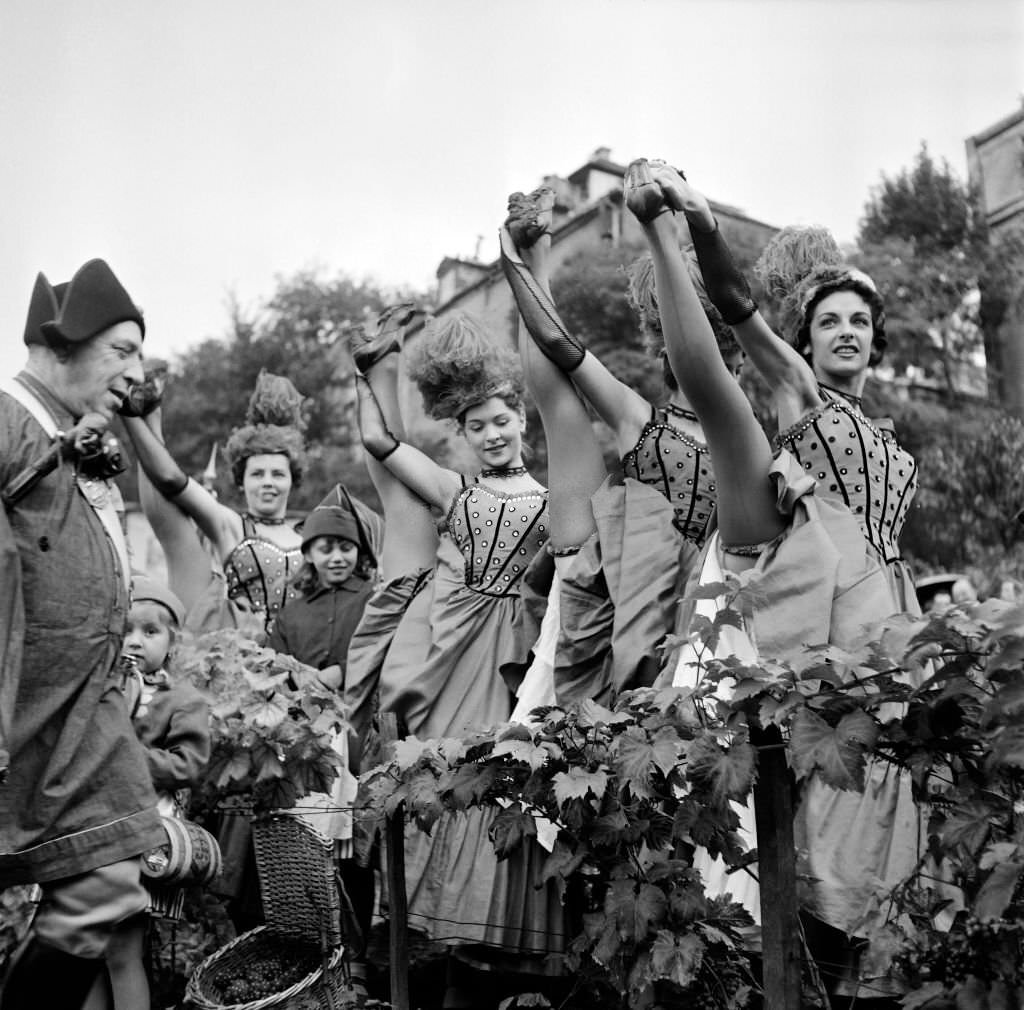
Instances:
[[[465,559],[470,589],[518,595],[519,580],[548,540],[547,493],[506,495],[470,485],[452,503],[447,529]]]

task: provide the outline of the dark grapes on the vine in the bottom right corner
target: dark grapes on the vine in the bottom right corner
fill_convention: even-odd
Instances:
[[[949,933],[934,934],[897,958],[910,979],[953,986],[968,976],[1024,983],[1024,920],[970,916]]]

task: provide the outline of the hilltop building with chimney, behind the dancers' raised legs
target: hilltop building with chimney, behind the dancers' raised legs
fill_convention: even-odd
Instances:
[[[588,250],[643,242],[640,225],[623,203],[626,166],[612,161],[610,154],[607,148],[598,148],[568,176],[547,175],[542,180],[543,185],[555,193],[553,272]],[[776,230],[728,204],[711,201],[711,205],[723,235],[734,248],[760,251]],[[489,332],[515,346],[515,305],[497,260],[492,263],[453,257],[441,260],[433,314],[443,319],[453,312],[468,312]],[[415,340],[415,334],[410,339]],[[472,466],[461,439],[453,437],[451,426],[438,425],[425,417],[420,397],[409,384],[402,389],[402,404],[407,429],[417,441],[446,452],[453,466]]]

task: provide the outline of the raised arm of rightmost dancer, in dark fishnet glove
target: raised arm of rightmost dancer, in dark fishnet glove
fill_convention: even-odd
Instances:
[[[820,403],[810,365],[768,326],[758,310],[707,199],[668,165],[652,166],[652,174],[665,182],[667,199],[674,209],[686,216],[708,297],[732,327],[754,367],[776,391],[776,401],[794,401],[801,412]]]

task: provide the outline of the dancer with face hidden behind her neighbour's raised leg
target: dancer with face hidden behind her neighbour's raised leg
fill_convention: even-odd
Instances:
[[[667,402],[655,407],[616,379],[568,333],[549,288],[553,194],[514,194],[501,234],[502,265],[531,341],[520,346],[544,421],[552,534],[561,585],[554,659],[559,703],[649,684],[674,629],[715,505],[703,431],[666,361],[649,257],[630,269],[630,297],[660,359]],[[723,362],[742,353],[705,299]],[[615,435],[623,478],[608,477],[583,397]]]

